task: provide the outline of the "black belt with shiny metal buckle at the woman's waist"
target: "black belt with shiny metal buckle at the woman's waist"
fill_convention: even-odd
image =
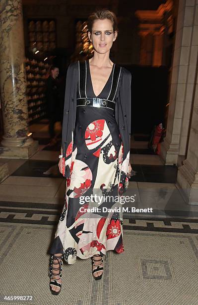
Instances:
[[[92,106],[92,107],[104,107],[115,110],[115,102],[106,99],[99,98],[79,98],[76,101],[77,106]]]

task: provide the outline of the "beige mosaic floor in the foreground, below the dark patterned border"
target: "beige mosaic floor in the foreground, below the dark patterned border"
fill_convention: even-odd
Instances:
[[[108,252],[102,280],[91,260],[63,266],[60,295],[49,289],[47,249],[54,227],[1,224],[1,295],[33,296],[33,301],[0,304],[197,305],[198,234],[124,230],[125,251]]]

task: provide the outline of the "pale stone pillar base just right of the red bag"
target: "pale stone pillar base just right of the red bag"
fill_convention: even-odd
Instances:
[[[160,157],[165,165],[177,164],[178,160],[178,144],[169,143],[166,138],[161,143]]]

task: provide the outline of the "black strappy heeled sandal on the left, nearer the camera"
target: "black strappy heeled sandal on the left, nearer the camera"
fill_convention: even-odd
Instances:
[[[55,291],[52,289],[52,286],[50,286],[50,291],[53,295],[58,295],[61,291],[61,286],[62,284],[57,282],[58,280],[61,279],[62,277],[62,266],[63,266],[63,261],[62,261],[62,258],[63,258],[63,255],[62,256],[55,256],[54,254],[51,256],[51,261],[50,261],[50,267],[49,267],[49,277],[50,279],[52,279],[53,281],[50,281],[50,285],[54,285],[54,286],[57,286],[57,287],[60,287],[60,290],[59,291]],[[61,259],[61,261],[59,261],[59,259]],[[53,263],[53,260],[57,260],[58,263]],[[54,268],[52,267],[54,265],[59,265],[58,268]],[[60,270],[59,273],[53,273],[52,270]],[[60,275],[60,278],[59,279],[53,279],[52,275],[54,276],[59,276]]]

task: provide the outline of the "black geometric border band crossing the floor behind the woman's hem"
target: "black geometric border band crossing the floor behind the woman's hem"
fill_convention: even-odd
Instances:
[[[17,202],[18,205],[19,202]],[[21,202],[21,204],[24,204]],[[7,207],[4,207],[4,206]],[[43,205],[43,204],[42,204]],[[61,211],[52,209],[11,208],[9,202],[0,201],[0,223],[57,226]],[[130,217],[131,216],[131,217]],[[124,215],[123,228],[150,232],[180,232],[198,234],[198,218],[155,218]]]

